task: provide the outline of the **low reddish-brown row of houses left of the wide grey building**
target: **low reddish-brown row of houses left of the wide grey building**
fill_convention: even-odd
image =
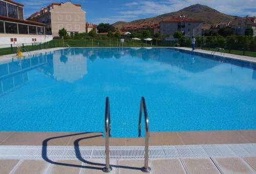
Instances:
[[[142,24],[131,24],[129,26],[124,26],[121,31],[122,32],[143,32],[145,30],[149,30],[152,33],[159,33],[160,28],[159,28],[159,23],[142,23]]]

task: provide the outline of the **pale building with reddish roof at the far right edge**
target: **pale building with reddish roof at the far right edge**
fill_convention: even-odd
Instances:
[[[234,19],[231,28],[233,28],[236,33],[242,35],[246,34],[246,30],[252,30],[252,36],[256,36],[256,17],[243,17]]]

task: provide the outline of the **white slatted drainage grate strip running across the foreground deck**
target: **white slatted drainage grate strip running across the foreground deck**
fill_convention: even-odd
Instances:
[[[256,156],[256,144],[150,146],[150,158]],[[104,159],[103,146],[0,146],[0,159]],[[143,159],[144,146],[110,147],[111,159]]]

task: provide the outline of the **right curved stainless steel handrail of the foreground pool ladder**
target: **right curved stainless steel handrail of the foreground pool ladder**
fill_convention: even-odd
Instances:
[[[147,116],[147,110],[146,110],[146,102],[145,98],[141,97],[140,102],[140,115],[139,115],[139,137],[141,137],[141,119],[142,119],[142,111],[144,111],[144,117],[145,117],[145,163],[144,167],[142,167],[143,172],[150,172],[151,168],[148,166],[148,141],[150,139],[150,132],[149,132],[149,126],[148,126],[148,116]]]

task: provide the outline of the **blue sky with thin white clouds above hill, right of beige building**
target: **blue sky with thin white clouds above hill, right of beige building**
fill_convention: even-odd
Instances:
[[[161,15],[164,13],[170,13],[174,11],[181,10],[185,7],[194,4],[207,5],[211,8],[214,8],[222,13],[229,15],[238,15],[238,16],[256,16],[256,10],[248,10],[256,7],[255,0],[167,0],[167,1],[138,1],[130,2],[124,4],[121,9],[118,10],[116,16],[110,16],[102,18],[110,23],[115,21],[124,20],[131,21],[135,19],[140,19],[144,17],[151,17],[156,15]]]

